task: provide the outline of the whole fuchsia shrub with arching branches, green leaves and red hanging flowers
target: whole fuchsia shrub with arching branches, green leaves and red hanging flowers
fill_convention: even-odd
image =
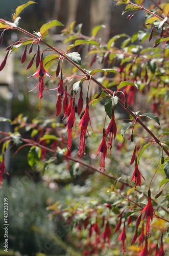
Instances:
[[[67,241],[77,252],[162,256],[169,253],[169,4],[115,2],[131,23],[143,12],[138,32],[104,42],[97,37],[103,25],[88,37],[73,22],[61,31],[66,50],[49,40],[50,29],[63,26],[58,20],[33,33],[19,27],[21,12],[33,1],[18,6],[13,21],[0,18],[0,44],[7,30],[20,37],[6,48],[0,71],[22,49],[37,115],[56,101],[50,117],[1,117],[14,131],[0,132],[0,182],[8,174],[6,151],[14,148],[16,156],[27,147],[28,163],[41,176],[55,181],[66,172],[71,182],[84,179],[74,197],[48,208],[51,218],[60,216],[70,227]]]

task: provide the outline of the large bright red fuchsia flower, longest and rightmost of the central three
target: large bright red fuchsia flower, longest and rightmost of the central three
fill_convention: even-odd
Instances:
[[[80,133],[80,143],[79,143],[79,155],[82,156],[83,153],[86,154],[85,152],[85,144],[86,144],[86,131],[88,133],[88,130],[87,130],[87,126],[88,126],[88,123],[90,122],[90,116],[89,116],[89,99],[88,97],[86,98],[86,108],[85,108],[85,111],[84,111],[84,114],[82,116],[82,119],[80,121],[80,123],[78,124],[78,126],[80,126],[80,129],[76,135],[76,137],[78,136],[78,134]],[[91,125],[91,122],[90,122],[90,125]],[[89,135],[89,133],[88,133]],[[89,135],[90,137],[90,135]]]

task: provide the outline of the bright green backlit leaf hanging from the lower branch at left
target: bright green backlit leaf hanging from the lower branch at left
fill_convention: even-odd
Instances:
[[[32,146],[28,152],[28,163],[31,168],[39,161],[41,157],[41,148],[38,146]]]

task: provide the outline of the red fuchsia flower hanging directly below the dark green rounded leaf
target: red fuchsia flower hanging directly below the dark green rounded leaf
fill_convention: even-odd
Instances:
[[[105,131],[106,137],[109,135],[107,146],[108,146],[108,148],[110,146],[110,153],[109,153],[110,155],[111,155],[113,137],[114,137],[114,140],[115,140],[116,133],[117,133],[117,126],[116,126],[116,123],[115,123],[115,120],[114,120],[114,114],[112,114],[111,121],[110,121],[110,123],[109,123],[109,125],[108,125],[108,127]]]

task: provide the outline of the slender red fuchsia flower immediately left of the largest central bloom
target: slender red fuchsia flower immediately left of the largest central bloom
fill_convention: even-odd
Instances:
[[[68,138],[67,138],[67,150],[70,150],[71,148],[71,138],[72,138],[72,128],[74,124],[76,125],[76,119],[75,119],[75,100],[73,101],[70,114],[67,118],[67,132],[68,132]]]

